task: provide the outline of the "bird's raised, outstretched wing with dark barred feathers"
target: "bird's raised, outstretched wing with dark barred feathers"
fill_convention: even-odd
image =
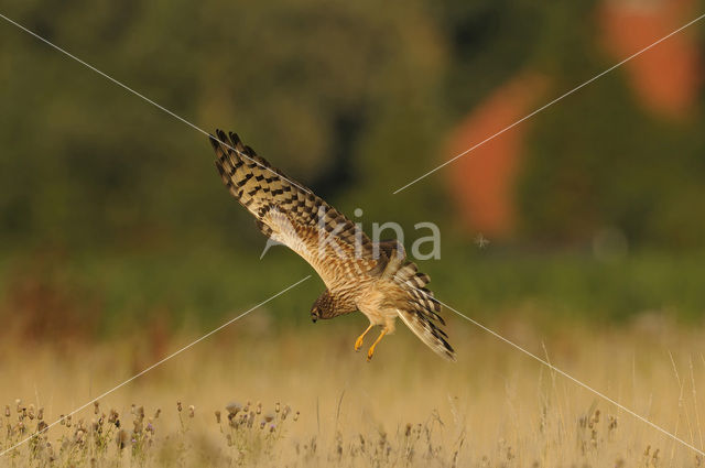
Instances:
[[[303,184],[272,167],[237,134],[216,130],[216,166],[232,196],[262,233],[303,257],[330,290],[387,262],[352,221]]]

